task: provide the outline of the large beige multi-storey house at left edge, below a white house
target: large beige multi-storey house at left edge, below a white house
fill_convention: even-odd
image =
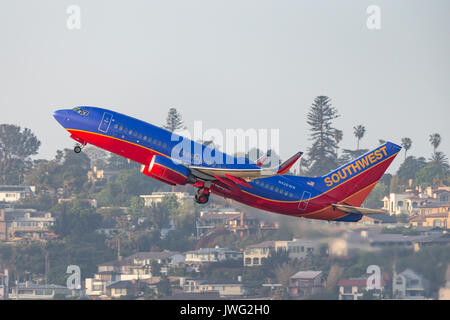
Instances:
[[[0,241],[46,240],[56,219],[34,209],[0,209]]]

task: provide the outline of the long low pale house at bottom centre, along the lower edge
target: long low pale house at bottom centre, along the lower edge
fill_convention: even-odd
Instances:
[[[180,285],[185,293],[219,293],[220,297],[240,297],[247,295],[247,288],[241,282],[182,279]]]

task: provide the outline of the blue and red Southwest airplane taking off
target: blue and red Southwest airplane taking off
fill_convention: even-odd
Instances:
[[[356,222],[382,213],[360,206],[401,150],[386,142],[323,176],[302,177],[287,174],[302,152],[265,168],[266,156],[232,157],[108,109],[79,106],[53,116],[78,142],[76,153],[90,143],[138,162],[146,176],[197,188],[197,203],[207,203],[213,193],[269,212],[328,221]]]

